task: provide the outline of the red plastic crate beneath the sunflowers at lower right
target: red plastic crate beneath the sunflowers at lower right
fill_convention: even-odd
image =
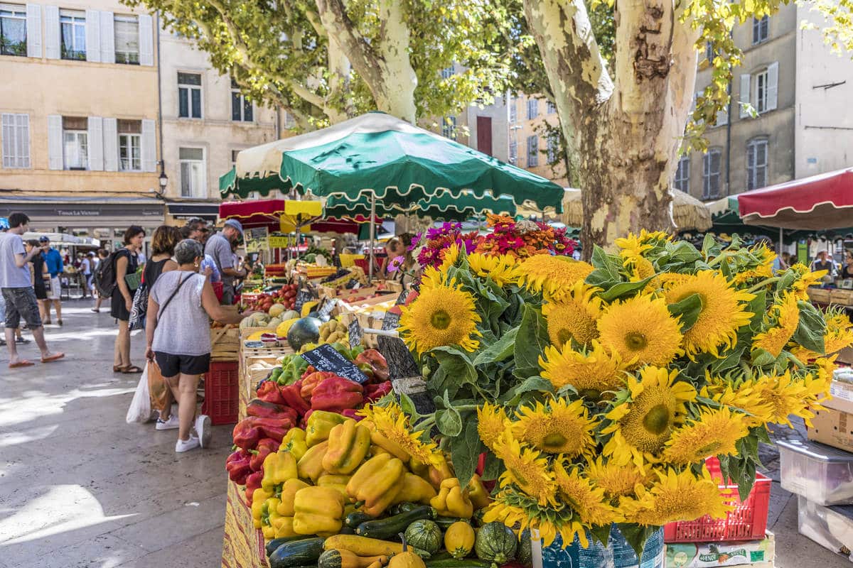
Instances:
[[[720,462],[716,457],[705,461],[711,476],[722,479]],[[664,542],[720,542],[751,541],[764,538],[767,529],[767,512],[770,504],[770,485],[772,481],[761,473],[756,473],[755,485],[746,497],[740,501],[736,484],[720,485],[720,494],[734,509],[725,519],[711,519],[705,515],[701,519],[678,521],[664,525]]]

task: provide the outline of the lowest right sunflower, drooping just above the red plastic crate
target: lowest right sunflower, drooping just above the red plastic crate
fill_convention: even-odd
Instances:
[[[703,468],[699,477],[689,469],[656,472],[651,489],[638,486],[636,499],[623,498],[619,508],[625,520],[639,525],[659,526],[676,520],[693,520],[710,514],[722,519],[732,508],[723,502],[717,481]]]

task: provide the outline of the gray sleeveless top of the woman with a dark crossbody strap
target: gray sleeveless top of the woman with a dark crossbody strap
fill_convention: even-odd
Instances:
[[[169,305],[165,301],[180,281],[186,280]],[[211,352],[211,325],[201,305],[205,277],[198,273],[173,270],[160,274],[150,295],[160,306],[160,320],[154,330],[154,351],[172,355],[205,355]]]

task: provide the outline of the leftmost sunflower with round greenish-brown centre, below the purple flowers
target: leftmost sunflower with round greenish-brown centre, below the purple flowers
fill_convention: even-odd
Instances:
[[[401,307],[399,330],[410,349],[423,354],[435,347],[459,346],[474,351],[479,341],[472,336],[480,321],[473,296],[453,286],[440,285],[421,290],[415,301]]]

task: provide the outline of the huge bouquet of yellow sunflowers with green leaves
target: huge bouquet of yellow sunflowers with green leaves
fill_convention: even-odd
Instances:
[[[485,454],[485,520],[545,546],[616,525],[639,551],[660,525],[724,517],[706,458],[746,496],[767,425],[808,422],[853,343],[846,316],[808,301],[822,274],[774,273],[763,246],[616,244],[591,263],[452,244],[400,318],[438,408],[403,409],[437,428],[463,486]]]

